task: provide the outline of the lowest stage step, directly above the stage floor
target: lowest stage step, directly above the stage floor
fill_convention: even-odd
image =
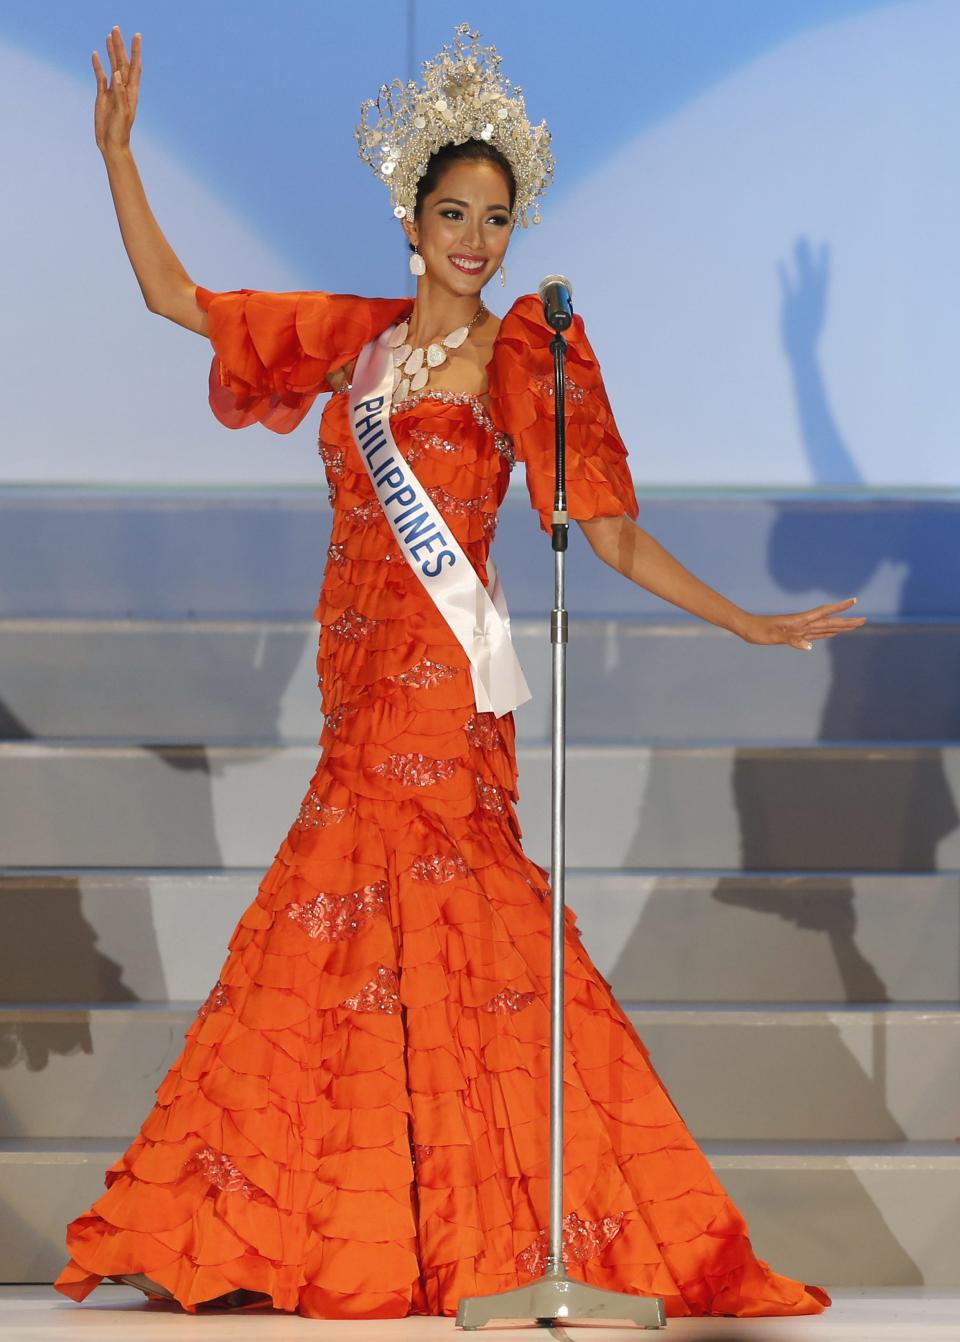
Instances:
[[[103,1188],[122,1142],[0,1143],[0,1280],[48,1282],[63,1228]],[[955,1143],[704,1143],[777,1271],[830,1286],[960,1286]],[[784,1209],[789,1209],[787,1213]]]

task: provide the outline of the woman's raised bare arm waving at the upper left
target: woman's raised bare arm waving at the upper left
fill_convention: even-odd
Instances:
[[[130,149],[140,91],[141,36],[134,34],[129,60],[119,28],[109,34],[106,50],[111,71],[109,86],[99,55],[93,54],[97,75],[94,130],[126,255],[149,310],[205,336],[207,314],[197,305],[196,286],[153,217]]]

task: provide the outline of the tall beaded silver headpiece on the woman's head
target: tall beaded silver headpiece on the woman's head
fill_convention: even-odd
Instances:
[[[514,219],[540,223],[537,197],[553,178],[546,122],[532,126],[522,90],[499,72],[495,47],[481,47],[479,34],[462,23],[432,60],[423,62],[423,86],[395,79],[360,109],[354,132],[360,157],[389,187],[393,213],[412,219],[416,188],[431,154],[443,145],[482,140],[510,164],[517,184]]]

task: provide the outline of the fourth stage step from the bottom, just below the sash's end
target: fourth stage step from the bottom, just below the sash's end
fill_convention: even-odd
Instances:
[[[267,866],[314,746],[0,745],[15,867]],[[520,750],[529,854],[549,854],[546,746]],[[960,867],[960,746],[612,746],[568,753],[568,862],[603,868]]]

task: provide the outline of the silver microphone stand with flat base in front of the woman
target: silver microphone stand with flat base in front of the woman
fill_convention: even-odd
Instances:
[[[549,318],[548,318],[549,319]],[[494,1295],[463,1296],[457,1327],[481,1329],[506,1319],[552,1327],[580,1319],[634,1323],[642,1329],[666,1326],[658,1295],[628,1295],[587,1286],[567,1275],[564,1266],[564,878],[567,831],[567,341],[561,331],[569,315],[557,313],[550,341],[553,401],[556,407],[556,488],[550,544],[553,546],[553,609],[550,644],[553,671],[553,729],[550,769],[550,1227],[546,1266],[528,1286]]]

